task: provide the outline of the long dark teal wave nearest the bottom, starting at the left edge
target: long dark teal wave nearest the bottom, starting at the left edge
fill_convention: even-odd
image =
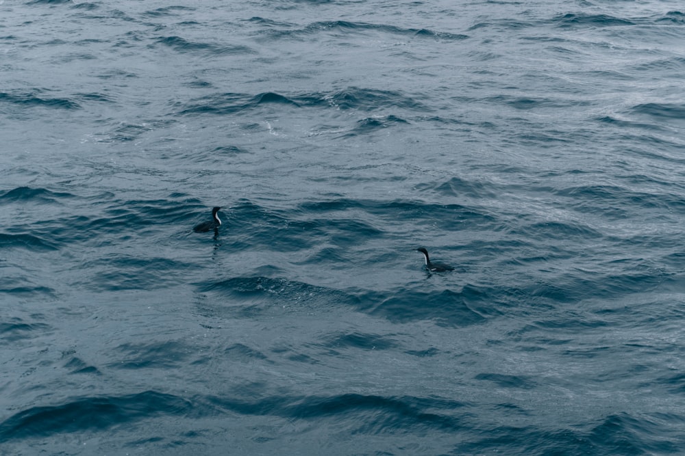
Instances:
[[[214,418],[222,415],[280,416],[288,420],[332,419],[353,433],[378,435],[400,429],[453,432],[466,404],[412,396],[345,393],[330,396],[218,397],[184,399],[153,390],[124,396],[82,397],[60,405],[30,407],[0,422],[5,442],[61,433],[105,431],[156,416]]]

